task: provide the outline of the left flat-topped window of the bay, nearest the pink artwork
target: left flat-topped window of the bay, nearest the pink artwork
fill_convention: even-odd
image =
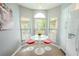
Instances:
[[[22,41],[28,39],[30,36],[30,19],[27,17],[21,17],[21,33]]]

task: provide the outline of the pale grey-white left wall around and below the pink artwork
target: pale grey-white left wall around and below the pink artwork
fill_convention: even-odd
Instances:
[[[17,4],[7,4],[13,11],[14,26],[11,30],[0,31],[0,55],[13,54],[20,46],[19,7]]]

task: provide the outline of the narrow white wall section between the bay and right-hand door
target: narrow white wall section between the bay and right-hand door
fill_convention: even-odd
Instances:
[[[67,27],[66,23],[68,21],[68,9],[67,5],[61,6],[61,19],[60,19],[60,45],[63,49],[66,49],[66,39],[67,39]]]

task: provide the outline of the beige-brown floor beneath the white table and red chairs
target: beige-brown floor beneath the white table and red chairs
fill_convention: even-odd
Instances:
[[[50,47],[51,50],[50,51],[45,51],[43,54],[41,55],[37,55],[35,53],[35,49],[38,48],[38,47]],[[56,46],[54,45],[45,45],[45,44],[41,44],[39,46],[39,44],[36,44],[36,45],[25,45],[23,46],[16,54],[15,56],[65,56],[64,52],[61,50],[61,49],[58,49]],[[28,47],[34,47],[33,50],[29,51],[29,50],[26,50]]]

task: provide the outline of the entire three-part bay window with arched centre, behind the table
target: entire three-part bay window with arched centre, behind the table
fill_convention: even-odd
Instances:
[[[43,13],[35,14],[31,20],[28,17],[21,17],[22,40],[28,39],[31,35],[41,33],[48,34],[49,38],[56,41],[57,21],[57,17],[50,17],[48,20]]]

